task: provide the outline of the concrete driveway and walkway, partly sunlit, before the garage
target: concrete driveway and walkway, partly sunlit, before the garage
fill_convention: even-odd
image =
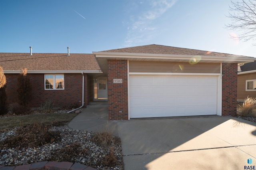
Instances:
[[[84,109],[69,126],[92,131],[108,128],[120,136],[125,170],[256,166],[256,123],[234,117],[108,121],[104,106]]]

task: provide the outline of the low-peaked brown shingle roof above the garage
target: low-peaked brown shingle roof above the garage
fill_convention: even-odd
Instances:
[[[223,56],[223,57],[246,57],[241,55],[233,55],[227,53],[217,53],[212,51],[202,51],[197,49],[188,49],[180,47],[170,47],[166,45],[142,45],[136,47],[127,47],[120,49],[111,49],[100,52],[117,52],[117,53],[150,53],[150,54],[174,54],[174,55],[209,55],[209,56]]]

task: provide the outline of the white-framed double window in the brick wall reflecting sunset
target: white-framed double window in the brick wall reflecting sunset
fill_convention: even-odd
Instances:
[[[44,89],[64,89],[64,75],[63,74],[46,74],[44,75]]]

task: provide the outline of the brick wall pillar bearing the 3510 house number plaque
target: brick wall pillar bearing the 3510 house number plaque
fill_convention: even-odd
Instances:
[[[123,79],[123,83],[113,83]],[[127,61],[108,60],[108,119],[128,119]]]

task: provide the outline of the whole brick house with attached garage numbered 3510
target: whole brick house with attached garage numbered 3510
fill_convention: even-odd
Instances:
[[[8,103],[16,101],[15,79],[26,67],[33,84],[31,105],[46,100],[82,105],[83,98],[86,106],[88,101],[107,100],[110,120],[235,115],[238,64],[254,60],[155,44],[70,56],[0,53],[12,96]],[[52,77],[54,87],[46,81]]]

